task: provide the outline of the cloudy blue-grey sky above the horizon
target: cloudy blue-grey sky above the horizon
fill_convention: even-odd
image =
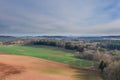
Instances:
[[[119,35],[120,0],[0,0],[0,35]]]

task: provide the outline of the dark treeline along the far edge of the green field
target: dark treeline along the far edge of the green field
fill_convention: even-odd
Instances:
[[[68,50],[75,50],[79,52],[84,51],[84,46],[76,44],[72,41],[64,41],[64,40],[41,39],[39,41],[34,42],[34,45],[54,46],[58,48],[65,48]]]

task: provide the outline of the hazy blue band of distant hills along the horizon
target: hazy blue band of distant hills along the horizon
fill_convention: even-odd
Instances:
[[[62,39],[62,40],[120,40],[120,36],[0,36],[0,41],[16,39]]]

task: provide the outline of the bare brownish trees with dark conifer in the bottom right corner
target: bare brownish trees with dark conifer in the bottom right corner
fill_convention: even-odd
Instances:
[[[117,56],[119,57],[119,55]],[[107,80],[120,80],[120,57],[116,59],[114,56],[111,56],[102,59],[98,68],[105,74]]]

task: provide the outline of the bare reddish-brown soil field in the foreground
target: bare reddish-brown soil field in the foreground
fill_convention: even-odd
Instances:
[[[97,73],[78,70],[65,64],[40,58],[0,55],[0,80],[92,80],[88,74]]]

